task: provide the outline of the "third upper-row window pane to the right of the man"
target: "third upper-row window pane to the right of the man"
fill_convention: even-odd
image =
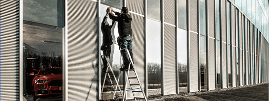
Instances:
[[[205,0],[200,0],[200,34],[206,35]]]

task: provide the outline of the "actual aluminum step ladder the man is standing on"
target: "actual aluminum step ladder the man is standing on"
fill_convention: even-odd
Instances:
[[[123,48],[123,49],[126,49],[126,48]],[[120,50],[123,50],[123,49],[120,49]],[[125,96],[126,96],[126,94],[127,94],[126,92],[129,91],[129,90],[131,89],[135,100],[137,100],[137,98],[142,98],[142,99],[146,99],[146,101],[148,101],[148,99],[147,99],[147,97],[146,97],[146,94],[145,94],[144,91],[143,91],[142,85],[141,85],[141,83],[140,83],[140,81],[139,81],[139,78],[138,78],[137,72],[136,72],[136,70],[135,70],[135,66],[134,66],[133,60],[132,60],[132,58],[131,58],[131,55],[130,55],[130,53],[129,53],[129,50],[128,50],[128,49],[126,49],[126,50],[127,50],[127,53],[128,53],[128,56],[129,56],[129,59],[131,60],[131,62],[130,62],[130,64],[129,64],[129,67],[128,67],[127,70],[120,70],[119,77],[118,77],[118,80],[117,80],[117,81],[119,82],[119,78],[120,78],[120,74],[121,74],[121,72],[123,72],[123,71],[127,71],[127,78],[126,78],[126,80],[125,80],[125,86],[123,86],[123,87],[124,87],[124,90],[123,90],[123,95],[124,95],[124,96],[123,96],[123,99],[122,99],[122,100],[126,100],[126,98],[125,98]],[[121,52],[121,51],[120,51],[120,52]],[[121,56],[121,58],[123,59],[122,56]],[[131,65],[133,66],[133,69],[130,69]],[[121,65],[121,67],[123,67],[123,64]],[[129,77],[129,73],[130,73],[130,71],[134,71],[136,77]],[[136,79],[137,82],[138,82],[138,84],[132,84],[131,81],[130,81],[131,79]],[[128,90],[126,90],[126,89],[127,89],[127,81],[129,81],[129,84],[130,84],[130,86],[131,86],[131,88],[128,89]],[[116,84],[116,89],[117,89],[117,86],[118,86],[118,82],[117,82],[117,84]],[[140,88],[135,88],[135,89],[134,89],[134,88],[132,87],[132,86],[138,86],[138,85],[140,86]],[[141,91],[138,91],[137,89],[141,89]],[[143,96],[144,96],[144,97],[137,97],[137,96],[135,96],[135,92],[141,92],[141,93],[143,93]],[[114,99],[114,97],[115,97],[115,94],[116,94],[116,90],[114,91],[113,99]]]

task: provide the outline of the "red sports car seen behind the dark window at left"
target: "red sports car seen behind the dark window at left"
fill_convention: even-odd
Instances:
[[[33,75],[32,72],[30,75]],[[63,68],[41,68],[33,81],[34,100],[53,94],[63,94]]]

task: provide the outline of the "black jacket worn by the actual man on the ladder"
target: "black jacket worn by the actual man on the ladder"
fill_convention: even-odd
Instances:
[[[109,13],[109,18],[115,21],[118,21],[118,32],[119,36],[123,35],[131,35],[132,36],[132,28],[131,28],[131,21],[132,17],[129,14],[120,14],[116,12],[116,16],[113,16]]]

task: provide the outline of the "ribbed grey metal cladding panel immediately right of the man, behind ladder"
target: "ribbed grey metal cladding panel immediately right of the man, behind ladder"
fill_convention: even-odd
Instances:
[[[145,85],[145,66],[146,66],[146,53],[145,53],[145,40],[146,40],[146,33],[144,30],[144,17],[142,16],[138,16],[136,14],[133,13],[129,13],[130,16],[132,16],[133,20],[132,20],[132,34],[133,34],[133,56],[134,56],[134,65],[135,65],[135,69],[137,72],[137,75],[139,77],[139,81],[142,85],[143,91],[146,90],[146,85]],[[130,72],[129,77],[135,77],[135,73],[134,72]],[[134,81],[132,81],[132,79],[130,79],[132,84],[138,84],[136,79],[133,79]],[[131,88],[129,85],[129,82],[127,83],[127,87]],[[132,86],[133,88],[140,88],[140,86]],[[144,97],[143,94],[141,92],[139,93],[135,93],[136,97]],[[127,99],[133,99],[133,93],[132,91],[127,91]]]

